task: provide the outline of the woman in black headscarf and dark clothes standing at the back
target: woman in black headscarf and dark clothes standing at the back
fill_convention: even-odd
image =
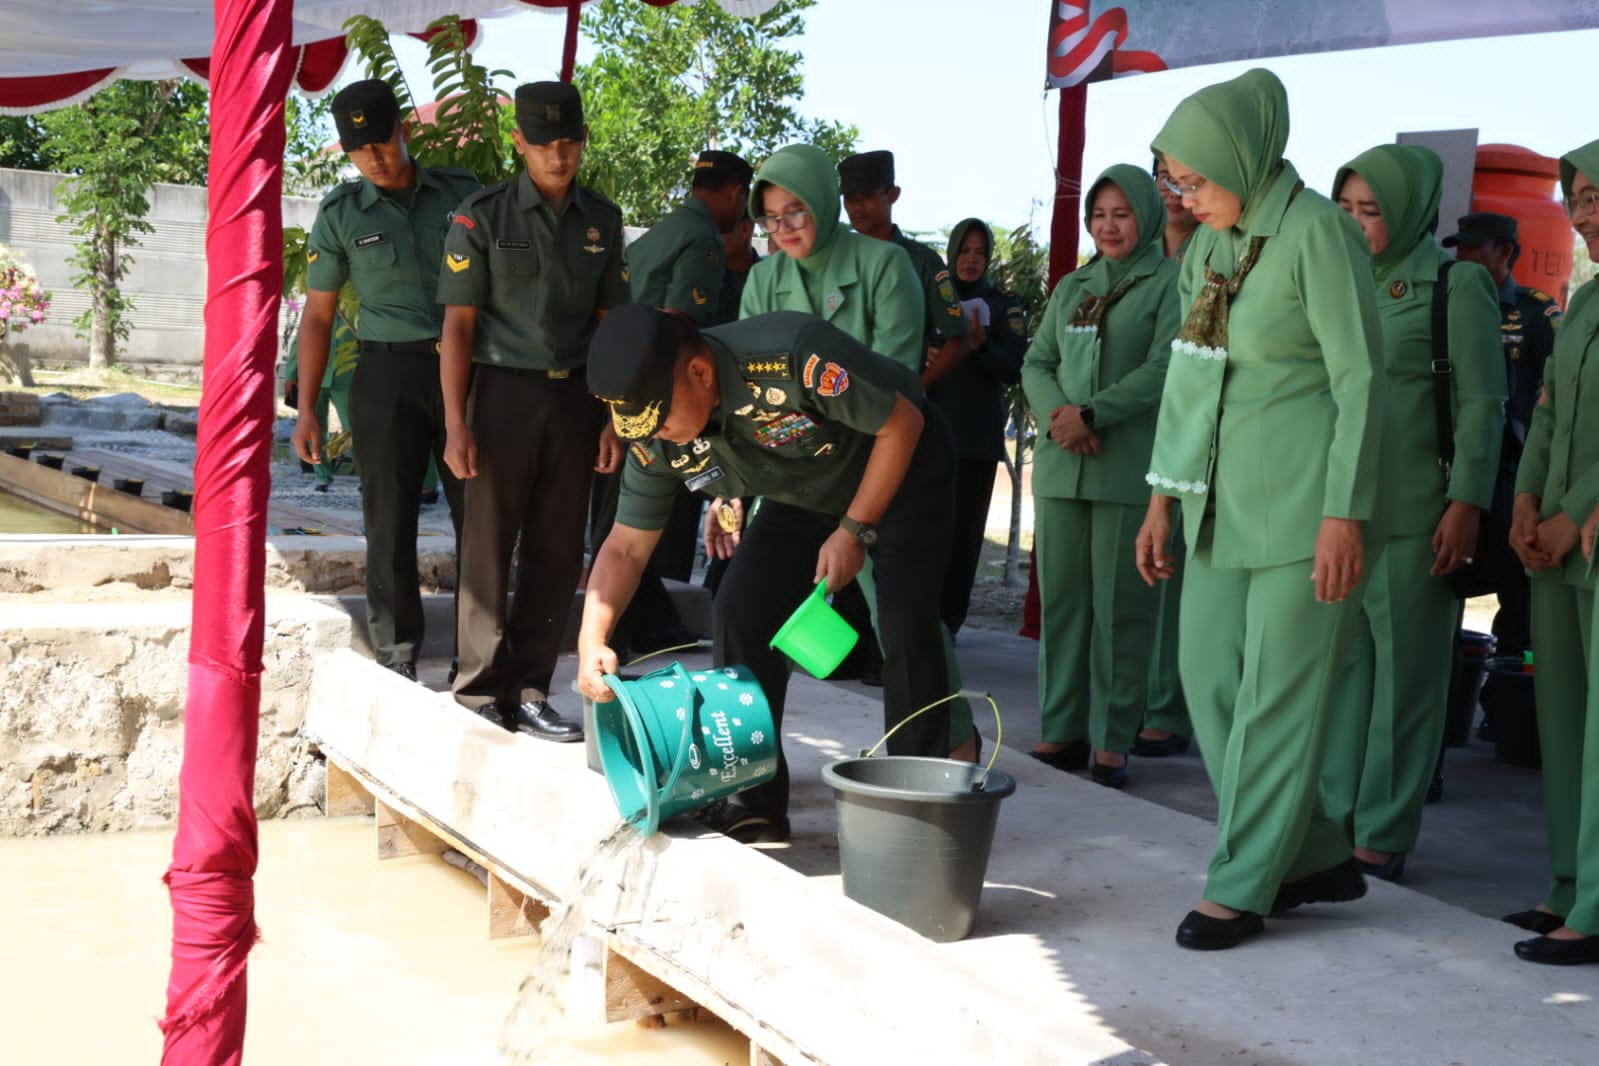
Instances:
[[[1004,460],[1006,388],[1022,380],[1027,315],[1022,300],[988,280],[993,230],[982,219],[963,219],[950,230],[955,294],[971,312],[967,340],[927,396],[939,404],[955,435],[955,529],[943,571],[939,614],[955,636],[966,622],[972,582],[988,532],[995,475]]]

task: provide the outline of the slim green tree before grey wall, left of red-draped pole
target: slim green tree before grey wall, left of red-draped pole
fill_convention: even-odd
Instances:
[[[115,82],[77,107],[40,118],[54,168],[72,177],[58,198],[78,246],[72,283],[90,307],[74,326],[90,342],[90,366],[110,366],[128,337],[133,302],[122,280],[130,248],[154,227],[149,189],[155,182],[203,185],[209,165],[206,91],[187,80]]]

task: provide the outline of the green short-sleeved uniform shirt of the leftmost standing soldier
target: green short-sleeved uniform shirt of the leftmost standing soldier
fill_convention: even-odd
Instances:
[[[363,340],[430,340],[445,308],[437,299],[445,235],[456,206],[483,189],[470,171],[417,166],[411,206],[361,177],[317,209],[305,248],[305,284],[337,292],[349,281],[361,304]]]

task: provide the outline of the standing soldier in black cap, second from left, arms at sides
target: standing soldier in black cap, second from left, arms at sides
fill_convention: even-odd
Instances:
[[[526,171],[461,205],[438,276],[445,462],[472,510],[454,695],[558,742],[582,738],[550,706],[550,678],[582,571],[588,483],[622,451],[584,387],[595,326],[627,299],[622,213],[577,184],[587,137],[576,88],[520,86],[512,142]]]

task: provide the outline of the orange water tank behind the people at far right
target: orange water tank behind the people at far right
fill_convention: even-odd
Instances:
[[[1561,166],[1548,155],[1516,144],[1482,144],[1477,145],[1471,209],[1516,219],[1521,233],[1516,281],[1543,289],[1565,307],[1577,238],[1557,200],[1559,181]]]

